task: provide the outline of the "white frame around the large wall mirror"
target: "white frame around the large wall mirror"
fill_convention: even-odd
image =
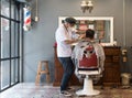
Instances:
[[[67,17],[58,17],[58,26],[62,25],[62,21]],[[76,20],[106,20],[110,21],[110,42],[101,43],[105,46],[113,45],[113,17],[73,17]]]

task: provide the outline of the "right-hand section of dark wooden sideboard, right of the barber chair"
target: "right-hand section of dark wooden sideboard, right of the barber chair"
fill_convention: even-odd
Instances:
[[[105,54],[106,61],[102,84],[105,86],[119,86],[121,48],[119,46],[108,46],[105,47]]]

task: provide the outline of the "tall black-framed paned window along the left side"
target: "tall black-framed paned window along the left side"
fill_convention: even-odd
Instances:
[[[18,84],[20,72],[21,4],[0,0],[0,91]]]

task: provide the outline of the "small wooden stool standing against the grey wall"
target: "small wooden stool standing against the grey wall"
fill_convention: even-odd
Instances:
[[[42,69],[42,67],[44,67],[44,69]],[[38,62],[35,85],[40,84],[40,79],[41,79],[42,74],[46,75],[46,81],[50,83],[48,61],[40,61]]]

